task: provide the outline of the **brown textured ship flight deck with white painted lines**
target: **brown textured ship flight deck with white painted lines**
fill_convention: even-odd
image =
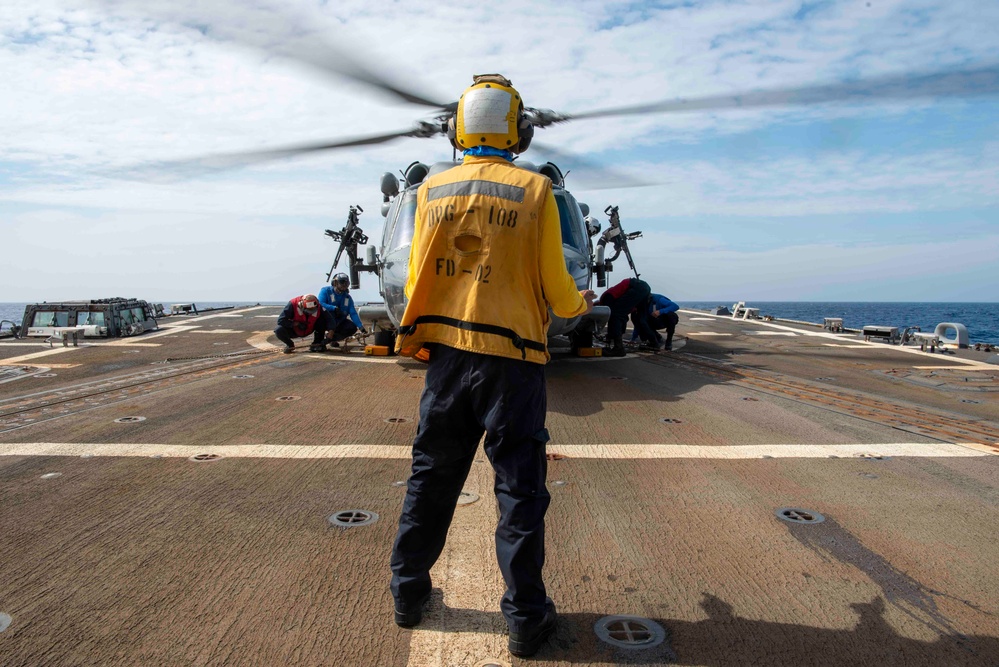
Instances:
[[[561,619],[526,661],[506,651],[481,453],[423,624],[392,622],[424,367],[278,354],[276,316],[27,359],[48,346],[0,342],[2,368],[23,364],[0,377],[0,662],[999,661],[986,364],[692,312],[671,354],[556,355],[545,572]],[[975,380],[906,379],[924,366]],[[346,510],[377,520],[328,521]],[[612,646],[594,632],[608,615],[665,635],[632,625],[632,648]]]

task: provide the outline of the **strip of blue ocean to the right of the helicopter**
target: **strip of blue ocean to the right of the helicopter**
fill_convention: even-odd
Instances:
[[[710,310],[717,306],[732,309],[735,301],[680,301],[681,308]],[[836,301],[747,301],[760,315],[822,324],[826,317],[843,318],[843,326],[861,329],[869,325],[919,327],[933,331],[941,322],[963,324],[972,343],[999,345],[999,303],[914,303],[914,302],[836,302]]]

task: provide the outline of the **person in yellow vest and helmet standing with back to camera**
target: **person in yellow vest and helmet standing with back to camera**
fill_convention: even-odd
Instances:
[[[430,177],[417,195],[409,303],[399,354],[429,356],[413,468],[392,551],[395,621],[422,620],[430,568],[444,548],[478,442],[496,471],[496,556],[501,608],[515,655],[554,631],[544,564],[548,308],[589,312],[594,294],[566,270],[551,181],[512,163],[534,128],[510,81],[475,77],[458,101],[452,142],[462,165]],[[449,133],[450,134],[450,133]]]

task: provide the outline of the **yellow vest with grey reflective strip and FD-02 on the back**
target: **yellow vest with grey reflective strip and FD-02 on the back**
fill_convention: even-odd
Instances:
[[[409,303],[396,351],[411,357],[427,343],[442,343],[546,363],[545,225],[554,225],[554,237],[549,233],[547,238],[558,244],[565,274],[558,288],[574,293],[559,294],[559,301],[576,311],[565,314],[581,313],[586,304],[565,269],[558,208],[547,177],[503,158],[466,158],[463,165],[428,179],[417,193]]]

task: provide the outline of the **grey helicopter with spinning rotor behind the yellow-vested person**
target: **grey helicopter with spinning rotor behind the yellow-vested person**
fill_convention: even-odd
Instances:
[[[374,135],[339,138],[332,141],[299,144],[282,148],[256,150],[241,153],[214,155],[174,162],[180,170],[217,170],[263,163],[273,160],[314,154],[333,150],[353,150],[365,146],[384,144],[391,141],[416,138],[434,138],[447,134],[448,121],[455,115],[457,102],[445,101],[427,94],[412,81],[400,85],[383,74],[389,70],[385,65],[378,68],[369,66],[352,54],[341,50],[328,42],[310,41],[302,50],[296,50],[294,43],[284,43],[275,47],[266,40],[258,39],[257,33],[245,33],[235,37],[245,45],[261,49],[268,54],[278,55],[298,60],[326,74],[352,80],[367,86],[369,89],[391,96],[402,102],[426,107],[432,110],[429,119],[417,121],[413,126],[392,132]],[[636,116],[645,114],[691,113],[691,112],[721,112],[726,110],[746,110],[757,108],[782,108],[795,106],[821,105],[835,102],[870,104],[877,101],[907,101],[931,97],[973,97],[995,95],[999,93],[999,66],[984,66],[975,69],[951,70],[930,73],[903,73],[883,75],[879,77],[848,81],[845,83],[819,84],[811,86],[775,88],[769,90],[749,90],[734,94],[709,95],[697,98],[670,98],[645,104],[633,104],[605,109],[596,109],[576,113],[563,113],[545,108],[525,107],[523,120],[530,126],[532,134],[535,129],[544,129],[557,124],[578,122],[590,119]],[[533,97],[533,96],[528,96]],[[568,155],[550,146],[532,142],[532,151],[541,151],[554,157],[563,165],[584,161],[577,155]],[[456,156],[453,156],[453,158]],[[360,206],[351,207],[348,223],[340,231],[326,230],[327,236],[339,244],[333,269],[339,264],[343,255],[347,256],[347,271],[350,273],[352,286],[358,286],[361,272],[372,272],[378,276],[379,291],[385,304],[376,310],[363,310],[362,319],[367,319],[376,325],[387,336],[398,325],[405,308],[403,286],[407,267],[408,252],[413,233],[415,211],[415,194],[427,177],[443,169],[449,169],[458,164],[451,161],[426,165],[421,162],[410,164],[402,172],[402,181],[394,174],[384,175],[381,179],[382,215],[385,224],[378,247],[367,247],[363,257],[361,246],[367,243],[367,236],[360,228],[359,216],[363,213]],[[563,247],[565,259],[576,284],[580,289],[589,288],[596,277],[597,286],[603,286],[606,273],[613,262],[624,253],[629,267],[638,277],[628,243],[641,236],[640,232],[628,233],[621,226],[620,213],[616,207],[608,207],[605,213],[610,216],[608,229],[594,244],[593,238],[599,234],[595,218],[589,214],[588,207],[581,205],[566,189],[565,175],[554,162],[534,165],[524,160],[517,163],[522,168],[533,169],[543,173],[552,180],[556,200],[560,204],[562,218]],[[160,163],[158,170],[164,166]],[[648,183],[623,183],[627,185],[648,185]],[[596,230],[596,231],[594,231]],[[608,247],[614,255],[605,258]],[[332,275],[327,274],[327,278]],[[579,332],[586,336],[595,330],[600,323],[601,314],[592,316],[592,322],[580,321],[561,322],[553,319],[550,335]],[[583,326],[580,326],[583,324]]]

